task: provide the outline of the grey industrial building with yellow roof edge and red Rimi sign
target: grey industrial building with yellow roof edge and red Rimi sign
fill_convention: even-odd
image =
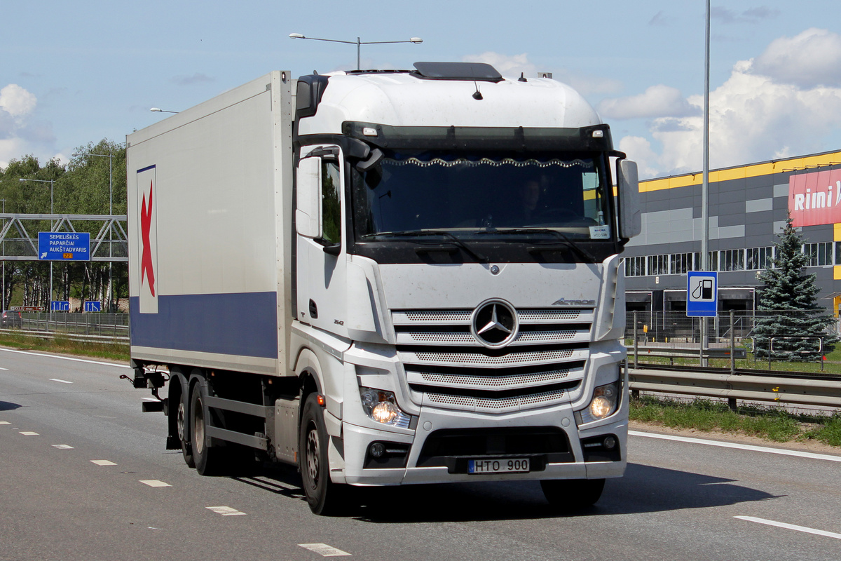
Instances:
[[[640,183],[643,233],[624,257],[627,310],[686,310],[686,273],[701,270],[701,172]],[[708,216],[718,310],[756,310],[759,272],[791,212],[817,275],[818,303],[841,304],[841,151],[711,170]]]

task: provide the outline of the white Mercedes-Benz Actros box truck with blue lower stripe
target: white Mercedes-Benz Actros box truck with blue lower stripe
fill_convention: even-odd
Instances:
[[[272,71],[127,146],[133,382],[200,474],[256,449],[319,514],[476,480],[574,508],[623,474],[637,168],[571,88]]]

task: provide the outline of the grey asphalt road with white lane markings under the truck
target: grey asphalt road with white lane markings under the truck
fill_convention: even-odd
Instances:
[[[129,368],[3,349],[0,368],[3,560],[841,558],[841,457],[635,434],[626,477],[578,516],[537,483],[476,483],[375,490],[327,518],[293,468],[187,468]]]

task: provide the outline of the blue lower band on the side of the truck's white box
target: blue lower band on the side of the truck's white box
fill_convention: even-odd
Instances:
[[[277,305],[273,292],[160,295],[157,314],[140,314],[131,298],[131,344],[277,358]]]

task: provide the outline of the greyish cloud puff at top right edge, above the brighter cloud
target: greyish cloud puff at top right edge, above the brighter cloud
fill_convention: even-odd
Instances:
[[[754,71],[800,87],[841,86],[841,35],[812,28],[780,37],[756,57]]]

